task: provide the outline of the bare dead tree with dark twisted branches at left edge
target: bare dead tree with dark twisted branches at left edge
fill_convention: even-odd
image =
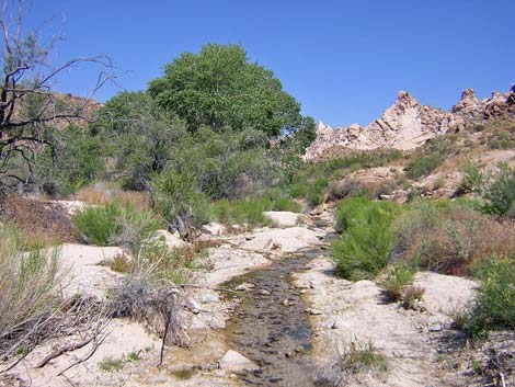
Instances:
[[[0,13],[0,193],[34,180],[37,152],[53,147],[57,123],[88,121],[85,110],[96,90],[113,79],[105,56],[79,57],[54,66],[49,55],[59,38],[42,44],[38,31],[25,31],[24,0],[3,0]],[[53,90],[62,71],[80,64],[99,66],[99,78],[87,98],[66,103]]]

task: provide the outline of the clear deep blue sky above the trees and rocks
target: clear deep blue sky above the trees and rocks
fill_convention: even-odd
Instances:
[[[485,98],[515,82],[515,0],[33,0],[26,20],[62,35],[56,62],[108,55],[125,90],[183,52],[241,44],[333,126],[369,123],[401,89],[450,109],[466,88]],[[84,94],[94,78],[76,69],[57,88]]]

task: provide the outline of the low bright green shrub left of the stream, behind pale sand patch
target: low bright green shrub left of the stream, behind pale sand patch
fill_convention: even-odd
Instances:
[[[135,249],[159,228],[150,212],[135,210],[129,205],[108,203],[87,207],[72,217],[79,238],[89,244],[127,246]]]

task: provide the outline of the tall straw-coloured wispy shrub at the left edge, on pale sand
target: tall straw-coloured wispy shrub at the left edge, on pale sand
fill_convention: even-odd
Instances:
[[[0,226],[0,355],[33,346],[47,330],[49,316],[59,307],[61,284],[58,250],[28,242],[20,230]],[[41,339],[41,338],[39,338]]]

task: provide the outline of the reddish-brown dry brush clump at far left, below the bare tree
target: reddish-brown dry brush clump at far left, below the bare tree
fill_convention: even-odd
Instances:
[[[5,200],[5,217],[19,227],[27,240],[44,246],[76,241],[73,225],[57,203],[11,195]]]

